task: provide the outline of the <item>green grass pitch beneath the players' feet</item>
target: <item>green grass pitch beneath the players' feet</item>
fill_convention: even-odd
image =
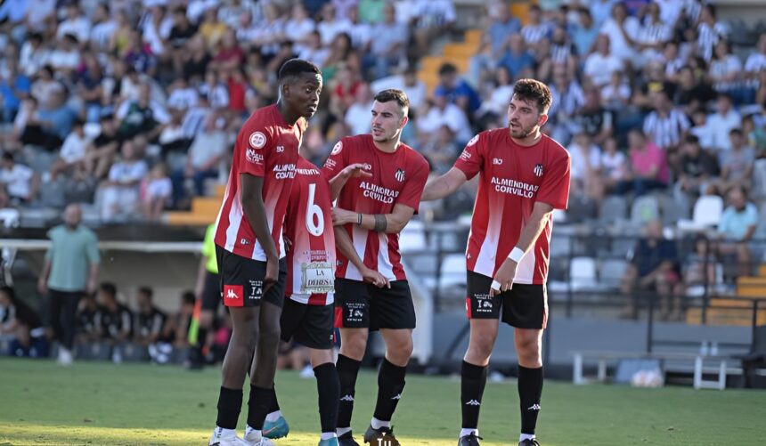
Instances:
[[[207,444],[216,420],[219,369],[0,360],[0,445]],[[354,432],[375,401],[375,375],[362,373]],[[291,433],[279,445],[316,444],[313,379],[279,372],[277,390]],[[406,445],[454,445],[460,427],[458,379],[411,376],[394,418]],[[247,399],[247,397],[246,397]],[[487,385],[483,445],[516,444],[517,389]],[[757,445],[766,442],[766,393],[688,387],[545,383],[538,437],[544,446],[631,444]],[[240,417],[243,426],[245,415]]]

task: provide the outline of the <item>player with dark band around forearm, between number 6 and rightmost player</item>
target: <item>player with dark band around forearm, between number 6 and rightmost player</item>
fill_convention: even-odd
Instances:
[[[384,90],[372,106],[371,134],[341,139],[322,170],[330,177],[363,164],[371,178],[352,177],[333,211],[338,268],[336,326],[340,328],[338,443],[351,435],[354,386],[369,330],[380,330],[386,357],[378,375],[378,401],[364,442],[393,439],[391,417],[402,396],[412,354],[415,308],[399,254],[399,232],[420,206],[428,161],[400,142],[410,102],[401,90]],[[379,275],[385,279],[379,282]],[[383,285],[383,287],[380,287]]]

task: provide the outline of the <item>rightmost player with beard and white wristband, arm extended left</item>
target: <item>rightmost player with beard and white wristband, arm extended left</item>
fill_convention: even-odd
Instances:
[[[423,199],[440,199],[479,174],[466,264],[469,348],[461,370],[460,446],[475,446],[487,365],[499,320],[514,327],[521,400],[519,445],[534,437],[542,393],[542,330],[553,209],[569,198],[569,154],[540,131],[548,120],[548,86],[519,79],[508,128],[477,134],[446,174],[429,182]]]

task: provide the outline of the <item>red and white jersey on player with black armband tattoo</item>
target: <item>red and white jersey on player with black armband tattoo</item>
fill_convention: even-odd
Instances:
[[[428,161],[420,153],[404,143],[393,153],[384,152],[375,147],[371,134],[346,136],[335,144],[322,171],[332,178],[354,163],[366,165],[372,177],[349,179],[338,197],[338,207],[362,214],[391,214],[397,204],[418,210],[428,180]],[[407,279],[399,254],[399,234],[367,231],[355,223],[346,224],[345,229],[368,268],[388,280]],[[363,280],[340,252],[335,275]]]

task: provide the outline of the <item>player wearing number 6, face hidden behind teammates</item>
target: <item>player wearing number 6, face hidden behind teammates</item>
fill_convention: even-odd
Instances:
[[[371,176],[363,165],[346,166],[334,179]],[[320,446],[337,446],[340,383],[332,357],[335,321],[335,233],[332,227],[332,201],[339,188],[331,191],[325,175],[304,158],[298,158],[296,180],[288,199],[285,215],[288,297],[281,315],[281,339],[294,339],[309,349],[319,393],[319,417],[322,425]],[[381,280],[383,282],[384,280]],[[268,438],[287,435],[289,426],[281,416],[276,394],[271,412],[266,416],[263,434]]]

